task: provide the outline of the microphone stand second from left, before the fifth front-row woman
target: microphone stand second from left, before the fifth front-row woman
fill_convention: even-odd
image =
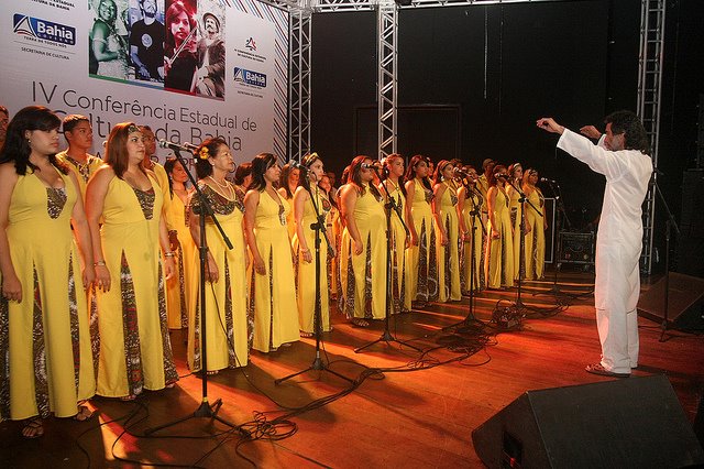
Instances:
[[[338,378],[342,378],[343,380],[350,383],[353,383],[354,381],[351,380],[350,378],[344,377],[334,370],[331,370],[328,363],[322,361],[322,358],[320,357],[320,342],[322,342],[322,338],[321,338],[322,337],[322,305],[321,305],[322,299],[320,294],[320,271],[322,269],[320,265],[320,242],[321,242],[320,234],[322,234],[322,237],[326,239],[326,243],[328,246],[328,254],[333,257],[334,250],[332,249],[332,244],[330,243],[330,239],[328,238],[328,232],[326,231],[327,214],[320,212],[320,207],[318,206],[318,201],[310,188],[310,179],[308,179],[308,174],[307,174],[308,171],[309,170],[305,166],[300,167],[300,172],[302,173],[301,176],[306,177],[305,181],[307,181],[307,183],[304,184],[304,187],[310,195],[310,201],[312,203],[312,208],[316,211],[316,220],[317,220],[315,223],[310,225],[310,228],[316,232],[316,242],[315,242],[315,246],[316,246],[316,250],[315,250],[316,252],[316,306],[314,309],[314,332],[316,336],[316,358],[312,360],[312,363],[310,364],[310,367],[304,370],[297,371],[295,373],[288,374],[287,377],[274,380],[274,384],[280,384],[286,380],[289,380],[294,377],[297,377],[302,373],[307,373],[308,371],[312,371],[312,370],[328,371]]]

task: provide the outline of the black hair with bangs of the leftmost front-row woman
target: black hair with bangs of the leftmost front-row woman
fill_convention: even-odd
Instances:
[[[35,172],[37,166],[30,161],[32,148],[24,133],[26,131],[41,130],[44,132],[58,130],[62,120],[44,106],[28,106],[20,109],[8,124],[4,145],[0,151],[0,164],[14,163],[14,171],[24,176],[28,167]],[[68,174],[68,165],[61,162],[56,154],[50,154],[48,161],[64,174]]]

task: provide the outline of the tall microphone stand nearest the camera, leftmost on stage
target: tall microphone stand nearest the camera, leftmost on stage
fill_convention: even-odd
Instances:
[[[200,405],[198,406],[198,408],[191,413],[190,415],[186,415],[185,417],[180,417],[177,418],[173,422],[153,427],[153,428],[147,428],[146,430],[144,430],[145,435],[152,435],[153,433],[156,433],[161,429],[180,424],[182,422],[186,422],[189,421],[191,418],[199,418],[199,417],[206,417],[206,418],[210,418],[210,421],[218,421],[227,426],[229,426],[232,429],[237,429],[238,432],[240,432],[240,434],[242,436],[245,437],[250,437],[250,433],[248,430],[245,430],[244,428],[242,428],[239,425],[234,425],[233,423],[226,421],[224,418],[220,417],[218,415],[218,412],[220,411],[220,407],[222,406],[222,400],[218,399],[215,403],[212,403],[212,405],[209,403],[208,400],[208,341],[207,341],[207,337],[206,337],[206,262],[208,259],[208,246],[206,246],[206,217],[210,217],[210,219],[212,220],[213,225],[218,228],[218,231],[220,231],[220,236],[222,236],[222,239],[224,241],[224,243],[227,244],[228,249],[232,249],[232,242],[230,242],[230,239],[228,239],[227,234],[224,233],[224,231],[222,230],[222,227],[220,226],[220,222],[218,222],[218,218],[216,218],[215,212],[212,211],[212,207],[210,206],[210,204],[208,203],[208,199],[206,198],[206,196],[202,194],[202,192],[200,190],[200,188],[198,187],[198,184],[196,182],[196,178],[194,177],[194,175],[191,174],[191,172],[188,170],[188,164],[186,162],[186,160],[182,156],[180,151],[178,149],[173,149],[174,150],[174,154],[176,155],[176,159],[178,160],[178,162],[182,164],[182,166],[184,167],[186,174],[188,175],[188,179],[190,181],[190,183],[193,184],[195,190],[196,190],[196,197],[198,197],[199,201],[200,201],[200,217],[198,217],[199,219],[199,227],[200,227],[200,239],[199,239],[199,243],[200,246],[198,247],[198,253],[199,253],[199,260],[200,260],[200,288],[199,288],[199,293],[200,293],[200,337],[201,337],[201,351],[202,351],[202,360],[201,360],[201,367],[200,367],[200,371],[201,371],[201,380],[202,380],[202,391],[201,391],[201,400],[200,400]]]

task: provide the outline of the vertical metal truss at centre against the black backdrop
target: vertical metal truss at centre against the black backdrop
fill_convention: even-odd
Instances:
[[[378,157],[396,153],[398,7],[393,0],[378,4]]]

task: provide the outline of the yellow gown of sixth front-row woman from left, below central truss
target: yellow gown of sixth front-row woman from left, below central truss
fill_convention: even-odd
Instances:
[[[342,307],[349,319],[381,319],[386,315],[386,214],[384,201],[377,199],[370,186],[360,194],[354,185],[345,190],[356,192],[354,221],[362,239],[362,253],[354,254],[352,237],[344,228],[340,259]]]

